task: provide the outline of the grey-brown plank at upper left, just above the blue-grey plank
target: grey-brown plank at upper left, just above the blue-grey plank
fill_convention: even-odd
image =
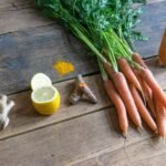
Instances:
[[[37,9],[0,10],[0,34],[51,24]]]

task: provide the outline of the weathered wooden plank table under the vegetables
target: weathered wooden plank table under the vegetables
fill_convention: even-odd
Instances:
[[[155,56],[166,25],[166,2],[148,1],[143,8],[138,29],[151,39],[136,45],[166,89],[166,70],[157,66]],[[75,71],[60,76],[52,68],[58,60],[72,62]],[[38,72],[48,74],[61,93],[61,108],[53,116],[41,116],[31,106],[29,83]],[[85,75],[97,104],[69,105],[77,73]],[[122,137],[96,61],[72,34],[43,19],[31,1],[0,0],[0,92],[17,103],[10,125],[0,132],[0,166],[165,165],[166,148],[148,129],[138,133],[131,126],[127,141]]]

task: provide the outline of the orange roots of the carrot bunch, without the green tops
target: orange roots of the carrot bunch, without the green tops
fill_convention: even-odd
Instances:
[[[117,60],[120,71],[108,63],[101,71],[106,93],[116,107],[120,127],[127,136],[128,118],[137,128],[143,128],[142,120],[152,131],[166,138],[166,95],[154,79],[142,58],[132,54],[138,68],[133,68],[124,58]]]

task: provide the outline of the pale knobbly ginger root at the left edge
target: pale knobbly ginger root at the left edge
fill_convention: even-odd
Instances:
[[[4,129],[8,126],[10,122],[8,115],[13,106],[14,102],[13,101],[8,102],[7,95],[0,96],[0,129]]]

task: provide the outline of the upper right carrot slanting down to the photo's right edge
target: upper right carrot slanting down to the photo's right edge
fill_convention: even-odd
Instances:
[[[148,69],[139,70],[139,74],[142,79],[147,83],[147,85],[152,89],[154,95],[166,106],[166,95],[164,91],[160,89],[157,81],[154,79],[152,72]]]

